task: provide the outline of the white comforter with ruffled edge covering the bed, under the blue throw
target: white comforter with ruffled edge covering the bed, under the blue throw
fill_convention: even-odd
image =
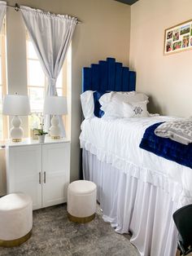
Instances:
[[[146,128],[159,121],[172,121],[174,117],[98,118],[81,124],[81,148],[100,161],[124,171],[137,179],[163,188],[180,205],[192,202],[192,170],[174,161],[168,161],[139,148]],[[131,168],[130,173],[130,165]],[[141,171],[138,171],[140,167]]]

